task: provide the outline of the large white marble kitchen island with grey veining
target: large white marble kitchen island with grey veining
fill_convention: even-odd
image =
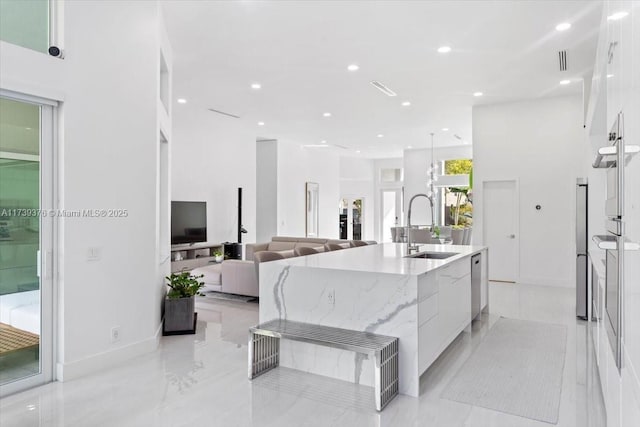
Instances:
[[[398,337],[400,393],[418,396],[420,375],[471,323],[476,254],[482,254],[480,306],[487,310],[486,247],[410,250],[406,243],[384,243],[260,264],[260,322],[286,319]],[[281,366],[373,384],[365,356],[286,340],[280,345]]]

